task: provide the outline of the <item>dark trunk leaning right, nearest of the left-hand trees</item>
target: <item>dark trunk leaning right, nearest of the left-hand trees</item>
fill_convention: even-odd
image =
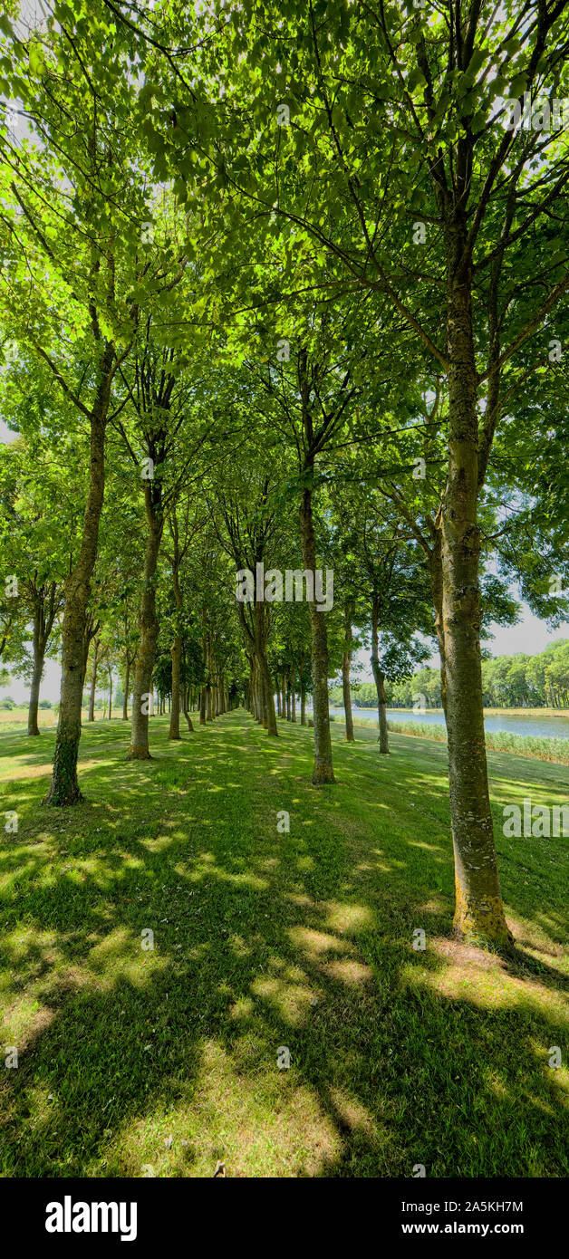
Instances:
[[[84,630],[91,596],[91,575],[97,558],[98,526],[104,496],[104,428],[112,381],[113,350],[107,346],[102,379],[91,418],[89,487],[83,536],[76,567],[65,582],[65,611],[62,630],[62,691],[55,737],[55,755],[49,792],[44,803],[77,805],[82,799],[77,781],[83,699]]]

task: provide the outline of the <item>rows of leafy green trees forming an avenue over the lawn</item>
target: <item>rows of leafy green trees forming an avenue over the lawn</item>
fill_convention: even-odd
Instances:
[[[312,782],[334,789],[330,680],[352,739],[369,645],[388,754],[388,696],[438,648],[454,927],[505,943],[483,703],[568,699],[566,643],[535,670],[482,651],[515,587],[553,626],[569,612],[569,5],[47,0],[34,29],[16,10],[0,648],[30,737],[60,656],[45,805],[82,798],[103,682],[131,760],[160,755],[155,690],[174,740],[239,703],[278,738],[310,695]],[[237,601],[259,565],[264,597]],[[279,597],[287,570],[302,599]]]

